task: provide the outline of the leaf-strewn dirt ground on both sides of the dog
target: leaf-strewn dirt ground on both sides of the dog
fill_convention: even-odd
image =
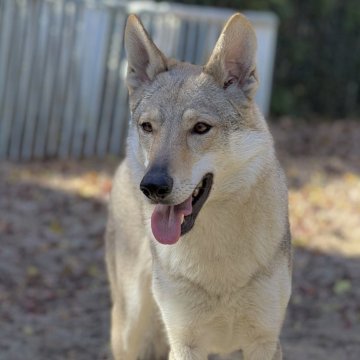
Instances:
[[[360,359],[360,122],[272,125],[289,179],[289,360]],[[116,159],[0,164],[0,359],[108,359]]]

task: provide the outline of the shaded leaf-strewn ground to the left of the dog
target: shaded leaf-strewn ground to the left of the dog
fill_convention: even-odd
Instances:
[[[0,358],[105,359],[104,202],[6,180],[0,199]]]

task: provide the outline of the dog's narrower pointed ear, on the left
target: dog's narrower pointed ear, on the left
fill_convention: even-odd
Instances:
[[[156,47],[136,15],[130,15],[125,27],[125,50],[128,59],[129,92],[166,71],[166,57]]]

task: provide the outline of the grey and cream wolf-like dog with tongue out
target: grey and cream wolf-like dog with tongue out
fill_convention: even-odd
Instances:
[[[249,20],[228,20],[203,67],[165,57],[135,15],[125,48],[131,120],[106,228],[114,358],[282,359],[287,187],[254,102]]]

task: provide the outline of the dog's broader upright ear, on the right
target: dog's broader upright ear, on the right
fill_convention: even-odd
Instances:
[[[256,48],[250,21],[235,14],[226,23],[204,71],[224,89],[238,86],[248,98],[253,98],[258,85]]]

